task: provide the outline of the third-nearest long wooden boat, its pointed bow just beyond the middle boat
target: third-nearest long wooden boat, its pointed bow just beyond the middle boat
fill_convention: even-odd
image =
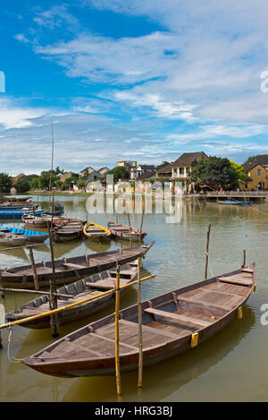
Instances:
[[[55,260],[55,279],[57,285],[67,284],[75,278],[82,279],[86,276],[112,269],[117,261],[120,264],[126,264],[127,262],[136,260],[138,257],[144,256],[153,244],[154,242],[151,242],[150,244],[134,248],[124,248],[106,253],[92,253]],[[40,287],[49,287],[49,279],[51,279],[53,272],[52,262],[38,262],[36,263],[36,270]],[[0,273],[4,287],[34,288],[31,265],[8,268],[1,270]]]

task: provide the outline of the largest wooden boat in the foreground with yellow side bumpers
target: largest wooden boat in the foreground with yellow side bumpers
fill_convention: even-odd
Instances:
[[[255,263],[142,303],[143,365],[157,364],[196,347],[242,316],[255,287]],[[121,372],[138,369],[138,305],[120,313]],[[239,329],[239,321],[238,321]],[[92,322],[22,362],[63,377],[115,373],[114,314]]]

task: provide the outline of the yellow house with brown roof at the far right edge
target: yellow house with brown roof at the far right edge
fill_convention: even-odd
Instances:
[[[247,174],[243,189],[247,191],[268,190],[268,166],[266,168],[255,162],[243,165],[243,167]]]

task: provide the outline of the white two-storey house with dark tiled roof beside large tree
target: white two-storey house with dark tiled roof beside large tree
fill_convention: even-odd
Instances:
[[[172,179],[180,179],[184,193],[192,192],[195,184],[189,184],[189,174],[193,171],[200,160],[208,159],[204,151],[196,151],[193,153],[183,153],[180,158],[175,160],[172,166]]]

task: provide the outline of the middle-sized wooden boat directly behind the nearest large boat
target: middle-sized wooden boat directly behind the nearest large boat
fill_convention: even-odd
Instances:
[[[133,261],[128,264],[121,265],[120,270],[120,285],[126,285],[133,281],[137,275],[138,265]],[[63,295],[70,295],[70,297],[58,297],[57,307],[61,308],[67,304],[74,304],[80,300],[87,299],[90,296],[95,296],[105,290],[114,288],[116,279],[116,269],[102,271],[101,273],[94,274],[93,276],[81,279],[69,284],[68,286],[60,287],[57,292]],[[121,295],[127,291],[128,287],[121,290]],[[95,300],[89,301],[84,304],[79,304],[68,311],[58,313],[57,319],[61,325],[74,321],[79,321],[93,313],[101,311],[106,306],[114,304],[114,292],[110,295],[99,297]],[[22,320],[32,315],[45,313],[49,311],[49,296],[39,296],[31,300],[27,304],[23,304],[20,308],[13,312],[6,313],[6,321]],[[21,324],[22,327],[32,329],[44,329],[50,327],[50,316],[39,320],[29,321]]]

